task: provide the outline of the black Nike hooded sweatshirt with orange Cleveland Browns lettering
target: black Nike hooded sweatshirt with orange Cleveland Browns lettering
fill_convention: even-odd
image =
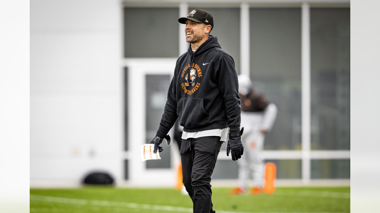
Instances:
[[[157,136],[163,138],[179,117],[185,132],[230,127],[240,131],[240,99],[233,58],[209,36],[176,62]]]

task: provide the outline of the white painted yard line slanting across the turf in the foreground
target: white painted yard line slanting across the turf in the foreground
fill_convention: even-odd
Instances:
[[[114,201],[106,201],[106,200],[85,200],[85,199],[77,199],[77,198],[53,197],[53,196],[43,196],[43,195],[35,195],[35,194],[30,194],[30,200],[54,202],[54,203],[60,203],[60,204],[98,205],[98,206],[109,206],[109,207],[175,211],[175,212],[189,212],[189,213],[193,212],[193,208],[185,208],[185,207],[150,205],[150,204],[134,204],[134,203],[127,203],[127,202],[114,202]],[[237,212],[237,211],[219,211],[219,210],[215,210],[215,211],[217,213],[249,213],[249,212]],[[284,212],[265,212],[265,213],[284,213]],[[297,212],[293,212],[293,213],[297,213]],[[314,212],[314,213],[328,213],[328,212]]]

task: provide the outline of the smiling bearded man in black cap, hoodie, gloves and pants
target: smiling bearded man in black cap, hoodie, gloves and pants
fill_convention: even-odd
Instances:
[[[241,158],[240,99],[233,58],[209,35],[214,27],[210,13],[194,9],[178,19],[185,24],[190,43],[174,69],[165,110],[155,138],[154,152],[177,118],[184,127],[180,149],[183,183],[193,201],[194,213],[214,213],[211,202],[211,175],[223,142],[227,156]],[[229,132],[229,133],[228,133]]]

